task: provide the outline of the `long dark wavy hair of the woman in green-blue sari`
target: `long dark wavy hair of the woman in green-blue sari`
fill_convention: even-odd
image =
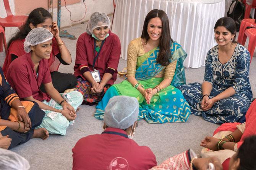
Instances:
[[[151,10],[144,21],[143,30],[141,38],[146,40],[145,43],[149,40],[149,35],[147,33],[147,25],[152,18],[159,17],[162,21],[162,33],[159,41],[159,54],[157,57],[157,62],[162,66],[167,66],[170,64],[169,59],[172,57],[170,52],[170,43],[173,42],[170,35],[169,19],[167,14],[163,10]]]

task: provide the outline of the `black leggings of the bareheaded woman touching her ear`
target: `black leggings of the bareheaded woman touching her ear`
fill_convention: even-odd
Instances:
[[[51,77],[52,84],[59,93],[63,93],[66,89],[73,89],[77,85],[76,77],[70,73],[60,73],[58,71],[53,71],[51,73]],[[40,90],[45,92],[44,84],[41,85]]]

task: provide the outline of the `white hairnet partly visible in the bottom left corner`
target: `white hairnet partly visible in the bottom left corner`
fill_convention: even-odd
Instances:
[[[0,169],[6,170],[28,170],[28,160],[19,154],[0,148]]]

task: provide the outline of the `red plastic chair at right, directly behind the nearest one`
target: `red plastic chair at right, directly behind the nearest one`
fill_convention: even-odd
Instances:
[[[240,44],[245,44],[245,41],[246,41],[245,30],[247,27],[256,28],[255,19],[246,18],[242,20],[240,24],[238,39],[237,39],[237,42]]]

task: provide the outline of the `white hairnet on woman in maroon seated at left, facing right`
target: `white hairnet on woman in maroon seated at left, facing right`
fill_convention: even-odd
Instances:
[[[30,46],[45,43],[53,38],[52,33],[42,27],[32,29],[24,41],[24,50],[28,53],[31,51]]]

